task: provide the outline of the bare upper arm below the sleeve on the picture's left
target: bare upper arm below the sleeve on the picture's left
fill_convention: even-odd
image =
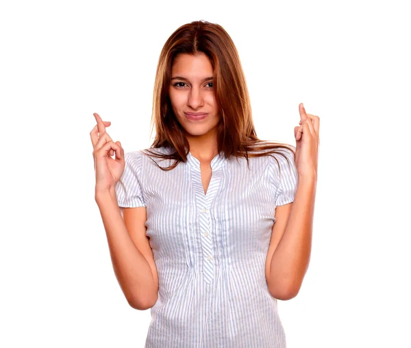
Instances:
[[[145,207],[135,207],[135,208],[121,208],[123,213],[123,220],[127,231],[132,237],[132,240],[138,251],[147,260],[153,273],[155,294],[153,294],[153,301],[158,297],[158,273],[155,267],[153,251],[149,243],[149,237],[146,235],[147,227],[145,227],[145,222],[147,220],[147,209]]]

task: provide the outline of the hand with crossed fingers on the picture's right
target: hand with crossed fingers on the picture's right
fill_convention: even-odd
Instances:
[[[299,104],[301,121],[300,126],[294,128],[295,141],[295,165],[299,177],[313,178],[316,181],[318,153],[319,153],[319,129],[320,117],[306,113],[303,103]]]

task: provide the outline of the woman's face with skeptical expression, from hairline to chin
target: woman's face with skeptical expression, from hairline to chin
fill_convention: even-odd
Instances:
[[[171,106],[188,137],[216,135],[219,111],[213,91],[213,69],[206,54],[180,54],[171,67]]]

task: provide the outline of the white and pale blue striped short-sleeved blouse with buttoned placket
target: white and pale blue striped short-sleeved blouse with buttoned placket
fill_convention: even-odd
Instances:
[[[158,149],[164,153],[164,148]],[[266,255],[275,207],[294,200],[298,174],[290,150],[272,156],[211,162],[204,194],[199,161],[126,152],[119,207],[146,207],[147,236],[158,271],[145,348],[285,348],[269,292]]]

